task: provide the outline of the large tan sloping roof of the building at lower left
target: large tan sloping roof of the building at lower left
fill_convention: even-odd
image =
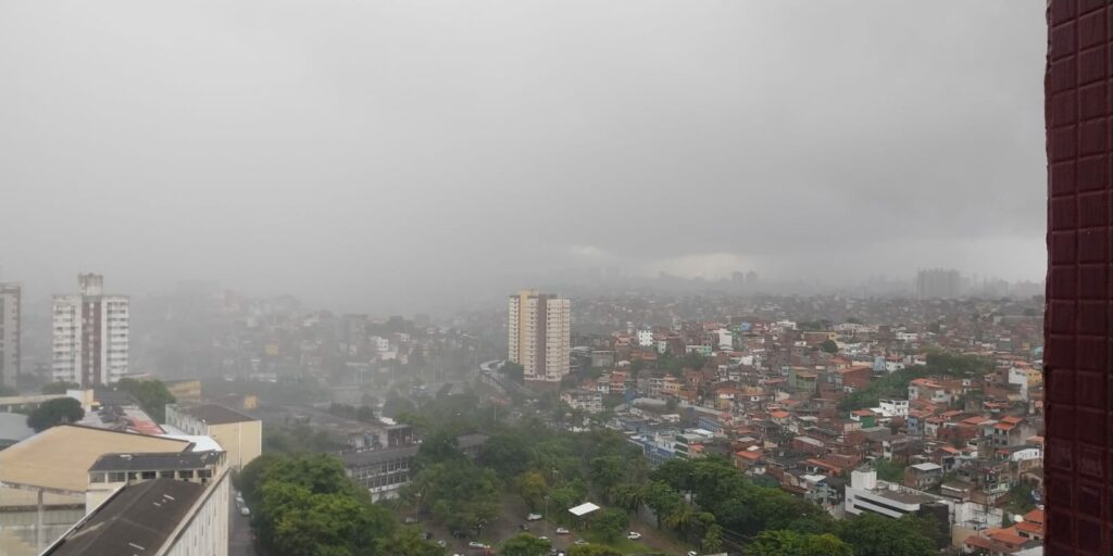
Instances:
[[[0,483],[83,493],[89,467],[105,454],[178,453],[185,440],[61,425],[0,451]]]

